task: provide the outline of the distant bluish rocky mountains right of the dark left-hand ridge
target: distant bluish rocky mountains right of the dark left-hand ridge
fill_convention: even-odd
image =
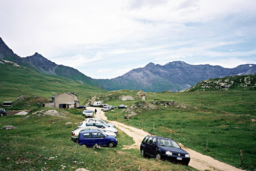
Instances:
[[[133,69],[114,79],[94,79],[107,90],[141,89],[143,91],[180,91],[202,80],[222,78],[232,75],[256,73],[255,64],[224,68],[211,65],[190,65],[182,61],[165,65],[149,63],[143,68]]]

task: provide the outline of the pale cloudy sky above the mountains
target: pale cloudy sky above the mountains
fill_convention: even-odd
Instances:
[[[256,63],[255,0],[0,0],[0,37],[94,79],[153,62]]]

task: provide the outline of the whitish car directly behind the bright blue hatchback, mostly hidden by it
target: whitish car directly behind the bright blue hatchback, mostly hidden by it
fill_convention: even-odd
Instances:
[[[80,131],[87,131],[87,130],[98,130],[98,131],[103,132],[106,135],[116,137],[116,134],[112,131],[105,131],[105,130],[100,129],[98,127],[81,127],[81,128],[76,128],[71,132],[72,141],[76,142],[78,140],[78,135],[79,135]]]

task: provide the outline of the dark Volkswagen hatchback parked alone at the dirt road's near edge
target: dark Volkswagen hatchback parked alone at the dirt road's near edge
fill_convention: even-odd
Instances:
[[[140,155],[156,157],[157,159],[167,159],[175,163],[188,165],[189,154],[182,150],[178,143],[170,138],[148,135],[140,144]]]

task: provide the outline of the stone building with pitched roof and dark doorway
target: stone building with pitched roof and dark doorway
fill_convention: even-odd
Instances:
[[[48,103],[44,104],[44,107],[70,109],[79,106],[78,97],[75,93],[59,93],[53,95]]]

